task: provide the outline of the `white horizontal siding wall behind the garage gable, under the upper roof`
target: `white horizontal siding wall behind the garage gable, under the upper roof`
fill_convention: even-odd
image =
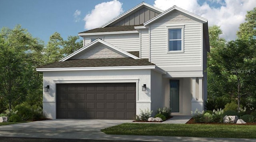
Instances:
[[[139,51],[140,39],[138,33],[129,35],[99,35],[98,37],[85,37],[84,45],[90,43],[92,38],[100,38],[126,52]]]

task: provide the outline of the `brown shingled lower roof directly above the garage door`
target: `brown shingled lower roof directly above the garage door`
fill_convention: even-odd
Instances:
[[[148,59],[134,58],[92,58],[75,59],[63,62],[54,62],[40,68],[86,68],[86,67],[110,67],[110,66],[154,66]]]

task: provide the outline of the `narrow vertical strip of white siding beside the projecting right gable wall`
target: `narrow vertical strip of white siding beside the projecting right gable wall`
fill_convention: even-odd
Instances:
[[[148,30],[140,31],[140,40],[141,40],[141,58],[148,58]]]

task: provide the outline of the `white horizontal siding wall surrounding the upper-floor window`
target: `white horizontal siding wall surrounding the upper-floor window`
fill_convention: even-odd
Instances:
[[[184,25],[184,53],[167,53],[168,27]],[[202,23],[174,12],[150,25],[150,62],[162,67],[201,66]]]

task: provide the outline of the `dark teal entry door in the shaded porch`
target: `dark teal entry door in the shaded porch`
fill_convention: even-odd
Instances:
[[[180,80],[170,80],[170,108],[173,113],[180,112]]]

